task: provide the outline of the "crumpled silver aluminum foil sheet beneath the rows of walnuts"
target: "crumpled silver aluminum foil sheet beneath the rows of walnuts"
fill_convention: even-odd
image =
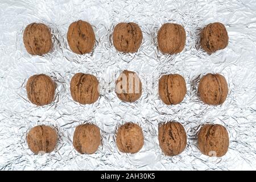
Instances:
[[[213,170],[256,169],[256,1],[158,1],[158,0],[5,0],[0,2],[0,169],[155,169]],[[76,55],[67,44],[68,26],[86,20],[96,33],[96,47]],[[31,56],[23,46],[27,24],[41,22],[52,30],[54,48],[44,56]],[[120,53],[112,44],[119,22],[138,23],[143,42],[134,54]],[[163,55],[156,43],[163,23],[182,24],[185,49]],[[208,55],[199,46],[200,30],[222,22],[229,34],[224,50]],[[138,73],[143,84],[141,99],[130,104],[115,96],[115,79],[124,70]],[[101,96],[93,105],[80,105],[69,92],[77,72],[95,75]],[[44,73],[57,84],[55,101],[38,107],[27,100],[28,77]],[[187,95],[179,105],[164,105],[158,96],[158,80],[179,73],[187,82]],[[200,78],[221,73],[229,84],[227,100],[208,106],[197,97]],[[178,156],[164,156],[158,143],[158,126],[178,121],[187,131],[188,144]],[[102,144],[96,154],[80,155],[72,146],[73,132],[81,123],[101,129]],[[125,122],[138,123],[144,146],[137,154],[122,154],[115,145],[115,131]],[[229,132],[230,146],[222,158],[209,158],[197,148],[197,133],[204,123],[220,123]],[[59,134],[55,151],[34,155],[26,134],[36,125],[50,125]]]

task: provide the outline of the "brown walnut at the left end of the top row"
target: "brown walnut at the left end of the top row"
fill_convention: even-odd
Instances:
[[[31,55],[44,55],[52,49],[52,35],[43,23],[31,23],[24,30],[23,43]]]

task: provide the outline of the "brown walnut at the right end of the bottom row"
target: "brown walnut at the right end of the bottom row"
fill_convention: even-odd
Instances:
[[[204,155],[221,157],[229,148],[229,135],[222,125],[204,125],[198,133],[199,150]]]

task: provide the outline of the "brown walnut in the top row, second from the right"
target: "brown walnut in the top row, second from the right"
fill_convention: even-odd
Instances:
[[[176,54],[185,47],[186,33],[180,24],[164,23],[158,31],[158,47],[162,53]]]

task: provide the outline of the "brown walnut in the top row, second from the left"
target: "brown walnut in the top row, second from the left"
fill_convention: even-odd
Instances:
[[[71,23],[68,28],[68,45],[77,54],[83,55],[92,52],[95,45],[95,35],[88,22],[79,20]]]

